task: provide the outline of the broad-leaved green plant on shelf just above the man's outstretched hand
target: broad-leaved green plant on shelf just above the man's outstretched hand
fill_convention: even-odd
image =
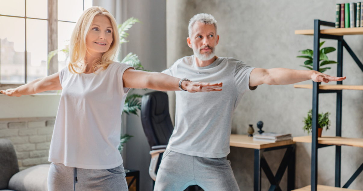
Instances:
[[[324,42],[325,41],[320,42],[319,48],[324,44]],[[334,52],[334,51],[335,51],[334,47],[325,47],[325,48],[320,49],[319,72],[323,73],[327,69],[331,69],[330,67],[321,68],[321,66],[324,66],[324,65],[327,65],[327,64],[338,64],[338,62],[333,61],[333,60],[329,60],[328,56],[326,56],[327,53]],[[300,65],[300,66],[308,68],[310,70],[313,70],[313,54],[314,54],[314,51],[311,50],[311,49],[306,49],[306,50],[299,50],[299,52],[301,52],[302,54],[306,54],[306,55],[297,56],[297,58],[307,58],[308,59],[308,60],[306,60],[304,62],[304,65]]]

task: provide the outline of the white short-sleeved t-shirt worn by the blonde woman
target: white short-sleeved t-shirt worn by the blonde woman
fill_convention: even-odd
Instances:
[[[123,162],[118,151],[121,114],[129,88],[122,76],[130,65],[114,62],[106,70],[59,73],[62,85],[49,161],[87,169],[109,169]]]

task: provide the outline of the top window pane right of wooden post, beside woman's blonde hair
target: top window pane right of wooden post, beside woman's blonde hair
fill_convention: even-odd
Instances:
[[[58,0],[58,20],[77,22],[82,12],[82,0]]]

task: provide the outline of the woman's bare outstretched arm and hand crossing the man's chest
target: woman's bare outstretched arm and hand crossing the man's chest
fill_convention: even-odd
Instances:
[[[144,72],[127,69],[123,73],[123,87],[148,88],[159,91],[178,91],[180,78],[158,72]],[[211,84],[206,82],[183,81],[181,88],[188,92],[221,91],[222,83]]]

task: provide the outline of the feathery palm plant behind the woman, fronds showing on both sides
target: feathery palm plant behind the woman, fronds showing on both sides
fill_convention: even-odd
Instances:
[[[120,45],[123,43],[129,42],[125,39],[127,36],[129,36],[129,33],[127,33],[126,31],[128,31],[132,27],[132,25],[135,23],[141,23],[141,22],[138,19],[131,17],[130,19],[127,19],[125,22],[123,22],[122,24],[117,25],[118,33],[119,33],[119,37],[120,37]],[[68,46],[66,46],[64,49],[61,49],[61,50],[57,49],[57,50],[50,51],[48,53],[48,67],[49,67],[50,60],[53,58],[53,56],[55,56],[59,52],[65,53],[66,60],[68,59],[68,57],[69,57]],[[120,61],[118,61],[118,62],[120,62]],[[141,65],[139,57],[136,54],[132,54],[132,52],[127,54],[125,56],[125,58],[123,58],[121,63],[129,64],[130,66],[133,66],[136,70],[148,71],[148,70],[145,70],[144,67]],[[133,90],[134,89],[131,89],[129,91],[129,93],[127,94],[127,97],[125,100],[125,105],[123,106],[123,113],[126,113],[128,115],[130,113],[138,115],[137,112],[141,109],[142,95],[132,94]],[[131,137],[134,137],[134,136],[129,135],[129,134],[121,134],[121,143],[118,147],[118,150],[120,151],[120,153],[123,149],[123,144],[126,143],[127,141],[129,141]]]

